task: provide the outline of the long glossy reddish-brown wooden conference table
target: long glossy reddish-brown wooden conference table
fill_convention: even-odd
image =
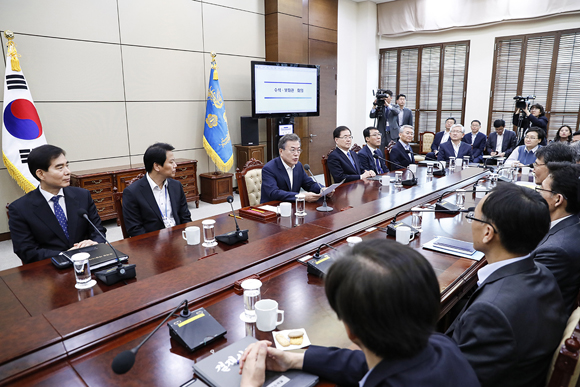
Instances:
[[[247,335],[272,340],[271,332],[260,332],[239,318],[244,307],[238,285],[249,277],[262,281],[263,299],[276,300],[285,311],[279,329],[305,328],[313,344],[348,347],[352,343],[326,301],[323,280],[308,274],[298,259],[311,256],[323,243],[340,250],[349,236],[394,240],[377,226],[386,227],[398,212],[433,203],[448,191],[471,188],[487,174],[467,168],[428,177],[420,167],[413,187],[366,180],[343,184],[328,200],[331,212],[316,211],[320,200],[306,204],[304,217],[238,219],[240,228],[249,230],[249,240],[233,246],[187,245],[182,231],[201,226],[201,220],[124,239],[113,245],[137,265],[137,278],[127,284],[98,282],[77,290],[72,269],[58,270],[48,260],[2,271],[0,385],[181,386],[192,379],[194,362],[210,351]],[[447,196],[454,200],[453,193]],[[476,201],[475,194],[468,194],[465,206]],[[216,234],[235,228],[229,214],[212,219]],[[411,221],[409,213],[397,220]],[[474,286],[485,259],[422,248],[436,236],[471,241],[469,221],[464,214],[425,212],[423,230],[410,242],[435,269],[443,317]],[[185,299],[190,310],[204,307],[226,328],[226,336],[190,353],[170,339],[165,325],[141,348],[131,371],[114,374],[113,358],[138,345]]]

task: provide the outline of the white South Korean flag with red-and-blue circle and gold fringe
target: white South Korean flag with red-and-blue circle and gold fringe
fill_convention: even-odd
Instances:
[[[14,35],[5,31],[8,39],[6,74],[4,77],[4,108],[2,109],[2,160],[18,185],[29,192],[38,186],[28,170],[28,154],[46,144],[42,124],[20,68]]]

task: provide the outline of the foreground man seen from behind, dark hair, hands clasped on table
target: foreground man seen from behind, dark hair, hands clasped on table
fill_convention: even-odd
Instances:
[[[254,343],[240,360],[241,386],[262,386],[265,368],[302,369],[341,386],[479,386],[456,344],[435,333],[439,283],[418,251],[384,239],[361,242],[330,267],[324,287],[361,350],[311,345],[293,353]]]

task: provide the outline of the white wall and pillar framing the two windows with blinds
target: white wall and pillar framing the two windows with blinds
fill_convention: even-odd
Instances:
[[[489,111],[489,93],[491,90],[495,38],[518,34],[559,31],[578,28],[580,26],[580,16],[569,15],[439,33],[412,33],[395,38],[380,38],[375,52],[371,53],[370,47],[368,47],[368,41],[370,40],[367,39],[368,35],[365,34],[362,36],[358,32],[364,30],[370,34],[370,30],[374,29],[374,33],[377,33],[376,11],[374,14],[372,12],[361,12],[363,7],[367,9],[373,6],[376,7],[376,5],[368,1],[355,3],[352,0],[339,0],[338,6],[339,89],[337,122],[339,125],[342,122],[352,122],[353,126],[355,124],[360,126],[360,131],[362,131],[364,126],[372,124],[372,120],[368,119],[372,102],[371,90],[376,88],[378,84],[378,57],[379,50],[382,48],[469,40],[470,54],[465,123],[469,126],[471,120],[478,119],[482,123],[482,130],[486,130],[488,127],[487,116]],[[346,29],[356,29],[356,39]],[[364,50],[368,54],[368,58],[374,57],[374,63],[372,63],[373,61],[371,59],[366,63],[364,60],[356,61],[356,63],[349,61],[347,62],[348,67],[344,69],[345,71],[341,71],[343,58],[355,52],[359,55],[358,50]],[[343,77],[347,79],[343,79]],[[348,82],[352,81],[355,77],[363,77],[364,79],[357,78],[358,88],[356,86],[347,88]],[[363,89],[362,85],[365,85],[366,88]],[[341,93],[342,90],[352,91],[352,93]],[[364,101],[364,106],[360,106],[361,101]],[[361,122],[364,122],[364,124],[360,125],[359,123]],[[355,133],[356,135],[357,133]],[[362,134],[358,133],[358,135],[359,137],[355,137],[355,141],[361,144]]]

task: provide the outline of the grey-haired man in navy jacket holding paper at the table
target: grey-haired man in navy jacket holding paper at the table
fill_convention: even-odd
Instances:
[[[300,188],[306,191],[307,202],[315,202],[320,198],[320,186],[308,176],[298,161],[302,148],[300,137],[291,133],[278,141],[280,157],[268,161],[262,168],[262,192],[260,203],[272,200],[290,202],[296,199]]]

